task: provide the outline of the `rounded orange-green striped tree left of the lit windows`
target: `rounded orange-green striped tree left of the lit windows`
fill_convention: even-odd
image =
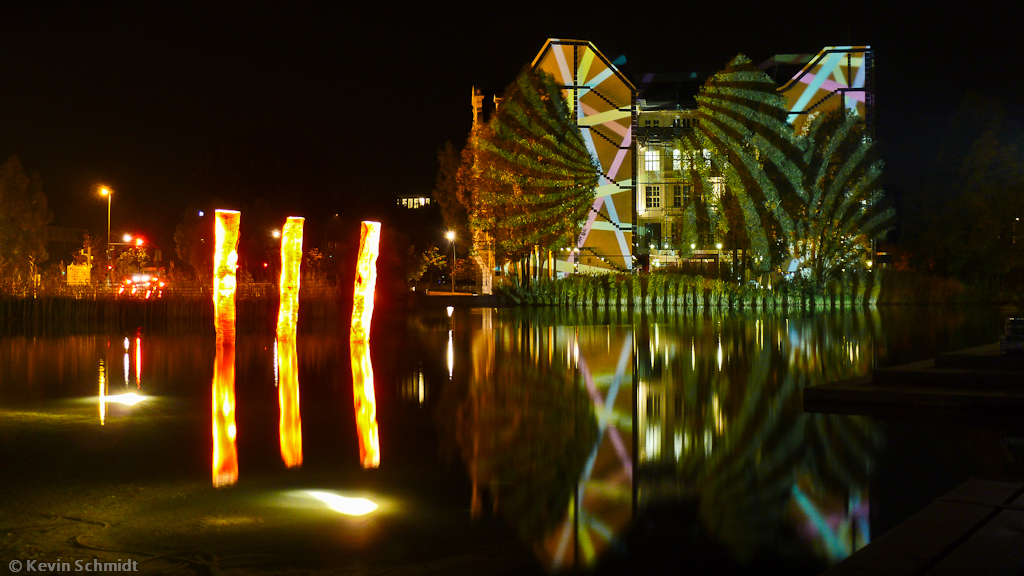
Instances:
[[[489,235],[500,255],[577,245],[598,169],[551,75],[524,68],[471,145],[470,227]]]

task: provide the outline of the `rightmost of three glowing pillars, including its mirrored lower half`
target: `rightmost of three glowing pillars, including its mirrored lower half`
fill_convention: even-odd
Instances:
[[[370,323],[374,315],[374,288],[377,285],[377,252],[380,238],[380,222],[362,222],[359,231],[359,259],[355,264],[355,291],[352,296],[352,326],[349,334],[355,427],[359,435],[359,460],[365,468],[376,468],[381,461],[380,442],[377,436],[377,400],[374,397],[374,367],[370,361]]]

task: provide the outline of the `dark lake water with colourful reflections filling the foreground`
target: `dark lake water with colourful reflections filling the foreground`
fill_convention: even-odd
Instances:
[[[240,333],[223,407],[212,331],[7,335],[0,550],[154,571],[212,558],[228,572],[615,573],[699,558],[686,561],[698,573],[815,574],[969,476],[1019,462],[1004,430],[806,414],[801,390],[994,341],[1006,316],[381,316],[373,446],[347,324],[300,328],[294,353]],[[215,407],[229,408],[229,435],[215,435]]]

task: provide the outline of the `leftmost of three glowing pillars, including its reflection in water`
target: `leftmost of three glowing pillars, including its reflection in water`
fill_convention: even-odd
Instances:
[[[239,260],[239,222],[234,210],[217,210],[213,252],[213,311],[217,356],[213,364],[213,485],[239,480],[234,446],[234,269]]]

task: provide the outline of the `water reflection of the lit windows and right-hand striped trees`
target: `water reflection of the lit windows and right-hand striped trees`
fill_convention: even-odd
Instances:
[[[668,490],[695,500],[701,525],[740,561],[777,548],[787,531],[811,538],[829,561],[863,545],[859,510],[879,435],[866,418],[804,414],[801,390],[867,373],[869,360],[849,346],[869,338],[872,321],[849,314],[655,324],[655,334],[685,329],[690,341],[680,351],[675,338],[650,339],[641,319],[641,466],[663,483],[667,470],[675,476],[668,488],[642,486],[642,499]],[[855,537],[839,536],[851,527]]]

